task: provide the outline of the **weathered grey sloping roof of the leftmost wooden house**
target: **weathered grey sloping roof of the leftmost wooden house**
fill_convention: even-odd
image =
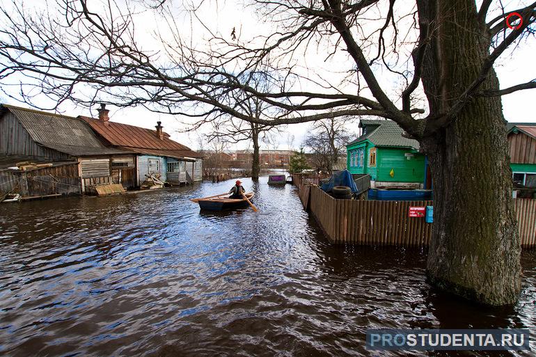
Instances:
[[[72,156],[124,154],[104,145],[84,120],[45,111],[2,105],[13,113],[33,141]]]

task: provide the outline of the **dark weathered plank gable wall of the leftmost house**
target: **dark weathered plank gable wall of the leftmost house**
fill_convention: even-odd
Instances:
[[[68,154],[44,148],[31,138],[13,113],[6,112],[0,117],[0,154],[68,159]]]

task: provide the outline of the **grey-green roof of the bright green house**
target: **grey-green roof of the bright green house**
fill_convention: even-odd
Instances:
[[[404,130],[397,123],[393,122],[393,120],[361,120],[359,126],[366,128],[365,134],[359,136],[348,145],[369,140],[375,146],[391,146],[419,150],[418,141],[402,136]]]

